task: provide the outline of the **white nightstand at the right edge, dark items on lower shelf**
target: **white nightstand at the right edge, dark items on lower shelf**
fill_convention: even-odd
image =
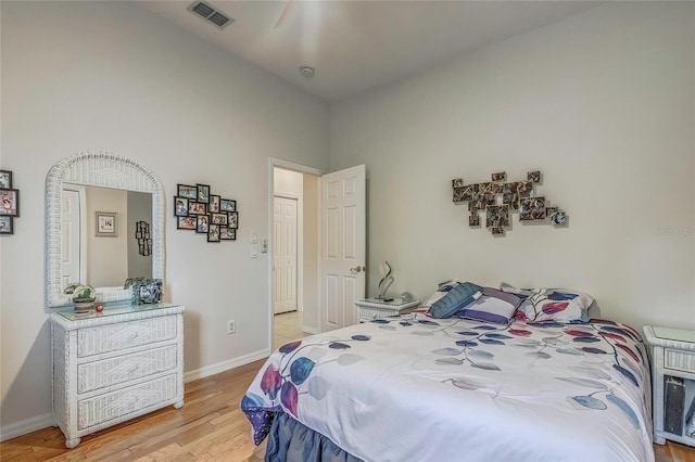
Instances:
[[[685,433],[695,411],[695,331],[645,325],[644,334],[652,352],[654,442],[694,446]]]

